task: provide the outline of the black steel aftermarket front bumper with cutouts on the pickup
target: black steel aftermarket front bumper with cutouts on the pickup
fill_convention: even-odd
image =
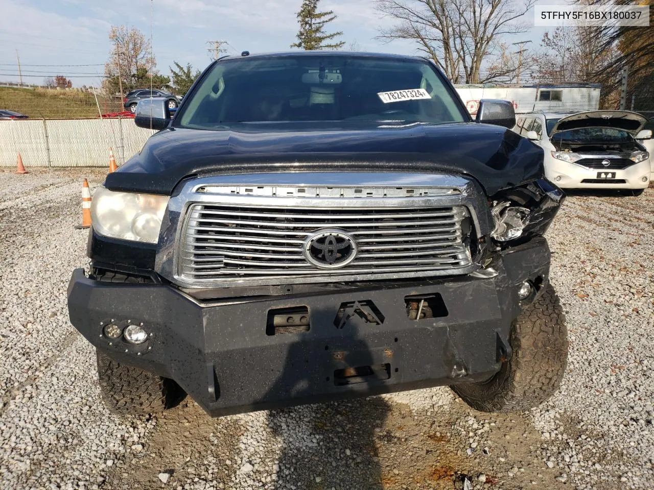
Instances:
[[[172,378],[209,414],[223,416],[489,378],[511,355],[511,323],[525,306],[519,286],[547,284],[547,242],[499,253],[491,267],[494,277],[213,302],[163,284],[99,282],[76,269],[68,307],[96,348]],[[405,298],[415,295],[440,295],[447,316],[409,319]],[[339,308],[353,302],[372,304],[379,318],[354,314],[335,324]],[[298,306],[308,308],[309,331],[269,335],[270,310]],[[142,323],[151,335],[141,346],[112,341],[103,336],[109,321]]]

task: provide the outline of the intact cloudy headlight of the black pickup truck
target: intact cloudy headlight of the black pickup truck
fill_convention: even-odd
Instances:
[[[156,243],[168,196],[114,192],[99,187],[91,204],[91,219],[105,237]]]

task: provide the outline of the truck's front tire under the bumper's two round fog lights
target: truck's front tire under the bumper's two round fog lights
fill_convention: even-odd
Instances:
[[[100,393],[114,414],[163,412],[186,396],[173,380],[117,363],[100,351],[96,353]]]

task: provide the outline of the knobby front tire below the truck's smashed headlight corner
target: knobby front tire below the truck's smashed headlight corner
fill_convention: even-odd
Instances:
[[[529,410],[559,388],[568,362],[568,329],[554,287],[548,285],[515,319],[510,342],[513,357],[490,380],[451,387],[475,410]]]

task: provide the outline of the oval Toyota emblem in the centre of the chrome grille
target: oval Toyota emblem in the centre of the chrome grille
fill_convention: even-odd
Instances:
[[[344,231],[319,230],[305,243],[304,256],[309,263],[322,269],[339,269],[354,260],[356,244]]]

